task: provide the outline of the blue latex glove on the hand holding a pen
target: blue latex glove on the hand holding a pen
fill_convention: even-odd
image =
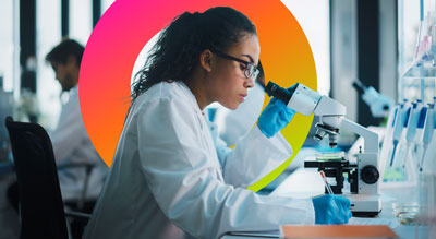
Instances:
[[[350,200],[344,196],[326,194],[312,199],[315,208],[315,224],[347,224],[351,218]]]

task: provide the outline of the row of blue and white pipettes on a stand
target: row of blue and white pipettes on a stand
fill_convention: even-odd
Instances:
[[[421,100],[411,104],[404,99],[390,113],[380,154],[380,171],[389,188],[417,183],[416,176],[423,170],[424,160],[434,154],[434,104],[425,105]]]

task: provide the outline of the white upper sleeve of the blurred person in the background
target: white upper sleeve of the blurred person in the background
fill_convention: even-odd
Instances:
[[[86,130],[81,115],[78,96],[74,95],[62,108],[58,127],[49,134],[56,162],[63,162],[71,156],[73,151],[82,144],[84,134],[86,134]]]

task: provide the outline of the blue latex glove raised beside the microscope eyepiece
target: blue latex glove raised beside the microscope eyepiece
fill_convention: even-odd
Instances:
[[[283,129],[295,115],[295,110],[290,109],[283,101],[272,98],[262,111],[257,126],[267,138],[274,136]]]

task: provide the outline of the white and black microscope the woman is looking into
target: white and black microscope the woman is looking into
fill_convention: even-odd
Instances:
[[[336,179],[336,186],[331,186],[335,194],[341,194],[351,201],[351,212],[354,216],[376,216],[382,211],[379,195],[380,177],[378,172],[378,135],[368,129],[344,118],[346,107],[317,92],[295,84],[286,89],[269,82],[265,87],[268,96],[275,96],[282,100],[289,108],[299,113],[319,116],[320,121],[315,124],[315,140],[320,141],[328,136],[330,147],[338,145],[339,128],[347,128],[364,140],[363,151],[356,155],[356,162],[352,163],[344,157],[326,160],[306,160],[304,167],[318,168],[325,171],[326,177]],[[350,183],[349,192],[342,192],[344,177]],[[325,190],[326,193],[327,189]]]

